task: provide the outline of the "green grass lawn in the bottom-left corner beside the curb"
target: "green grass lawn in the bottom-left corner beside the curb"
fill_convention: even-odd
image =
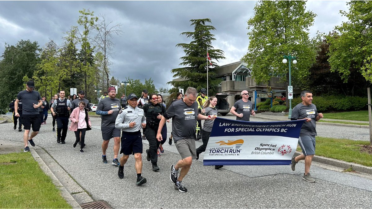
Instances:
[[[0,155],[0,208],[71,208],[30,152]]]

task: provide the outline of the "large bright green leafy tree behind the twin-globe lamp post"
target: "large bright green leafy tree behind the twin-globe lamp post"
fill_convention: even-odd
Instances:
[[[294,84],[301,82],[315,61],[315,49],[309,38],[315,13],[306,11],[306,1],[259,1],[254,17],[248,20],[250,39],[248,52],[242,60],[252,69],[254,80],[267,82],[273,75],[286,75],[289,68],[283,64],[283,55],[297,57],[291,66]],[[288,102],[287,102],[288,103]]]

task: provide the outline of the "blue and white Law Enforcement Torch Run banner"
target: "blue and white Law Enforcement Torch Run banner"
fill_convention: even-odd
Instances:
[[[304,122],[248,122],[216,118],[203,164],[289,165]]]

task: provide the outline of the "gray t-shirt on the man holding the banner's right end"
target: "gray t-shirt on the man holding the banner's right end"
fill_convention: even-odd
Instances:
[[[315,131],[315,122],[318,116],[317,107],[314,104],[304,105],[299,103],[292,110],[293,119],[304,119],[311,118],[310,122],[304,122],[301,127],[300,136],[315,136],[317,131]]]

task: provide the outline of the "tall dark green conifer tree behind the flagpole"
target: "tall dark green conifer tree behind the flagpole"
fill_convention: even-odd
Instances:
[[[220,49],[214,49],[212,41],[216,40],[211,30],[216,30],[211,25],[210,19],[196,19],[190,20],[191,26],[194,27],[193,32],[183,32],[181,35],[185,35],[187,38],[192,38],[189,44],[177,44],[177,47],[183,48],[185,56],[180,59],[182,62],[180,65],[184,67],[175,68],[171,70],[174,73],[174,78],[182,78],[182,81],[170,81],[168,82],[174,88],[170,90],[170,93],[177,93],[179,88],[187,89],[187,87],[194,87],[198,90],[206,88],[207,85],[207,69],[206,69],[206,57],[207,50],[209,57],[212,60],[213,67],[208,70],[208,90],[209,94],[215,93],[215,89],[220,79],[212,78],[216,75],[216,61],[225,59],[224,52]],[[210,66],[210,65],[209,65]]]

